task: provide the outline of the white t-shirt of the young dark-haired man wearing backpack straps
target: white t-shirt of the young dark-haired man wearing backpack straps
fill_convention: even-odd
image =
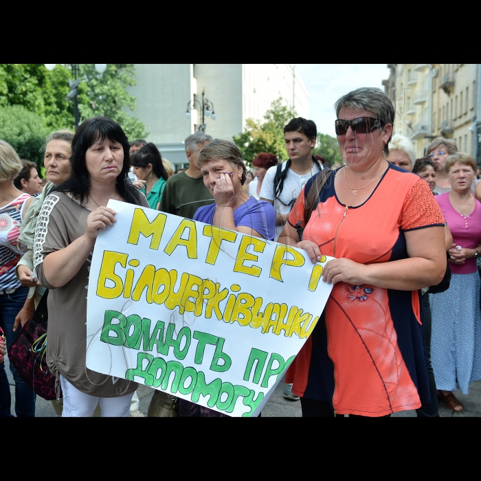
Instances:
[[[289,169],[286,177],[284,178],[284,186],[282,187],[282,192],[280,193],[280,198],[274,200],[274,177],[276,177],[277,166],[272,166],[269,168],[265,174],[264,180],[262,181],[262,188],[260,189],[260,197],[263,199],[268,199],[269,201],[274,201],[274,210],[276,214],[289,214],[291,208],[293,207],[292,201],[298,198],[300,191],[306,185],[306,182],[311,179],[311,177],[317,172],[319,168],[317,163],[313,165],[311,172],[304,175],[298,175]],[[287,162],[282,164],[282,169],[285,170]],[[324,166],[322,166],[324,168]],[[251,182],[252,183],[252,182]],[[283,225],[276,226],[276,240],[279,234],[284,228]]]

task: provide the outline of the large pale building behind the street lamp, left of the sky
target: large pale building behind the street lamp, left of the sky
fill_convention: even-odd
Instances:
[[[161,154],[177,165],[186,163],[183,140],[202,125],[202,93],[213,106],[204,117],[205,132],[232,138],[248,118],[262,120],[273,100],[282,97],[298,115],[309,115],[309,93],[291,64],[137,64],[137,98],[132,115],[142,120]],[[188,102],[194,109],[188,109]],[[198,101],[198,102],[197,102]],[[186,111],[190,111],[190,116]]]

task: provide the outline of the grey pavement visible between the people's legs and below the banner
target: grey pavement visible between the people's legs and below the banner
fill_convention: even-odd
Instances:
[[[8,359],[5,357],[5,370],[10,382],[10,392],[12,394],[12,414],[14,414],[15,405],[15,388],[12,374],[8,365]],[[301,407],[300,401],[288,401],[282,397],[282,393],[287,386],[281,381],[273,392],[269,401],[262,410],[262,417],[266,418],[300,418]],[[139,395],[139,409],[147,413],[150,399],[153,396],[153,389],[144,385],[139,386],[137,390]],[[456,390],[456,397],[463,403],[465,410],[463,412],[453,412],[449,410],[442,401],[439,405],[439,414],[443,418],[458,417],[481,417],[481,381],[475,381],[469,388],[469,395],[463,396],[459,390]],[[36,416],[38,417],[56,417],[52,401],[45,401],[40,396],[36,396]],[[416,417],[416,411],[396,412],[392,417]]]

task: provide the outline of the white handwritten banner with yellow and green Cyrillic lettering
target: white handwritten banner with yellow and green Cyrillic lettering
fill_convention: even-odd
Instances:
[[[87,367],[257,416],[331,293],[329,258],[109,201],[87,302]]]

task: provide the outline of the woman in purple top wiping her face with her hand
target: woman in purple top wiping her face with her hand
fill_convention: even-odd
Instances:
[[[194,221],[273,240],[276,212],[271,203],[258,201],[243,190],[246,169],[236,144],[229,140],[214,140],[201,150],[197,165],[215,203],[199,208]],[[181,417],[226,416],[184,399],[178,402]]]

